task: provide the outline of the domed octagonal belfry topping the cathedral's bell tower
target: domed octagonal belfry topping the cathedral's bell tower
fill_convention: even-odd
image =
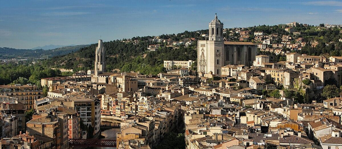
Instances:
[[[215,19],[209,23],[209,40],[223,41],[223,23],[217,18],[215,13]]]

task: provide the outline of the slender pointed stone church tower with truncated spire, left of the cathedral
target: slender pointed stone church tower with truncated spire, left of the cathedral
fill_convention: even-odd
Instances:
[[[106,72],[106,50],[103,47],[102,40],[98,40],[98,45],[95,50],[95,75],[101,72]]]

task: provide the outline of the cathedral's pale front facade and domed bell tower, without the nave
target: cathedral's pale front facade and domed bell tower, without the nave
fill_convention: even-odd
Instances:
[[[224,66],[222,52],[224,50],[223,23],[215,15],[209,23],[209,40],[199,40],[197,45],[198,72],[221,74]]]

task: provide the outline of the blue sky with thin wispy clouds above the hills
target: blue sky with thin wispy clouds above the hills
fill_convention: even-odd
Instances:
[[[342,24],[342,1],[0,0],[0,47],[96,43],[207,29],[297,21]]]

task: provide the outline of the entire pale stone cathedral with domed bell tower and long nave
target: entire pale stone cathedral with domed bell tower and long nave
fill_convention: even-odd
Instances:
[[[225,42],[223,23],[215,15],[209,23],[209,40],[197,42],[197,70],[199,73],[221,75],[226,65],[252,66],[257,46],[251,42]]]

